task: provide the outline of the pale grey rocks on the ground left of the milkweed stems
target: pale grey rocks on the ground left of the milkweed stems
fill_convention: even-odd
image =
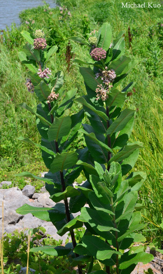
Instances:
[[[11,182],[1,182],[2,185],[10,185]],[[49,197],[49,193],[45,192],[43,187],[41,193],[35,193],[35,187],[26,185],[22,191],[17,187],[8,189],[0,189],[0,228],[2,228],[2,201],[4,205],[4,232],[13,233],[13,231],[25,230],[30,228],[37,228],[42,226],[46,229],[47,234],[51,235],[54,239],[62,239],[65,241],[67,235],[60,237],[57,234],[57,229],[51,222],[42,221],[34,217],[31,213],[27,215],[20,215],[16,213],[16,209],[24,204],[36,207],[53,207],[56,205]],[[61,201],[62,202],[62,201]],[[77,214],[78,215],[78,214]],[[2,236],[2,229],[0,229],[0,237]]]

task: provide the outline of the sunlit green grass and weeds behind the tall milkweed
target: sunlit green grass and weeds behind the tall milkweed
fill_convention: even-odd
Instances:
[[[135,3],[139,3],[135,0]],[[153,1],[155,3],[155,1]],[[87,33],[108,21],[112,25],[113,34],[125,31],[126,55],[139,60],[125,80],[135,81],[132,93],[128,94],[126,105],[137,109],[136,124],[132,134],[133,140],[144,142],[135,169],[147,172],[147,180],[140,193],[140,201],[144,201],[147,209],[143,216],[148,222],[148,230],[144,234],[155,239],[161,246],[163,229],[163,7],[161,8],[122,8],[120,0],[60,0],[59,6],[67,7],[61,13],[59,6],[55,9],[48,5],[21,12],[21,26],[6,28],[1,32],[0,39],[0,181],[12,180],[12,185],[20,188],[26,182],[24,179],[14,179],[13,174],[21,171],[33,172],[35,175],[46,171],[41,159],[41,153],[33,146],[21,143],[17,137],[30,137],[39,142],[39,135],[33,117],[16,108],[16,104],[26,102],[35,107],[37,102],[33,94],[25,88],[25,68],[21,66],[17,52],[24,43],[20,34],[22,29],[32,26],[43,28],[47,33],[48,44],[59,46],[49,67],[54,74],[62,69],[65,73],[65,88],[78,87],[79,95],[85,93],[83,80],[79,74],[78,65],[73,58],[89,60],[89,54],[84,46],[68,42],[70,36],[81,35],[87,38]],[[70,13],[68,13],[70,12]],[[32,22],[34,20],[34,22]],[[124,86],[124,83],[123,83]],[[73,107],[76,112],[76,107]],[[132,140],[131,139],[131,140]],[[74,147],[84,146],[82,136],[79,136]],[[81,179],[81,178],[80,178]],[[42,184],[31,181],[39,189]],[[161,226],[160,226],[161,225]],[[154,242],[154,240],[153,240]]]

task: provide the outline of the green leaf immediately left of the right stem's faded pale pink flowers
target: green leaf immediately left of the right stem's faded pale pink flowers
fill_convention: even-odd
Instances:
[[[95,74],[90,67],[80,67],[80,72],[86,85],[93,91],[95,91],[97,85],[101,85],[103,83],[100,78],[95,79]]]

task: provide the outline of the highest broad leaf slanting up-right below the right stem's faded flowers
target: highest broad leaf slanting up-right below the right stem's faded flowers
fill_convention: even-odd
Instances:
[[[134,117],[135,111],[125,109],[121,112],[120,116],[111,124],[106,132],[106,135],[111,136],[115,132],[122,131],[127,123]]]

